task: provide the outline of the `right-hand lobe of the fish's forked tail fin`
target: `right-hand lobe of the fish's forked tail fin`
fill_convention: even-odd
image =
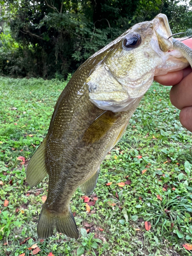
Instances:
[[[55,216],[55,225],[59,233],[64,233],[70,238],[79,238],[75,219],[70,209],[66,214],[58,214]]]

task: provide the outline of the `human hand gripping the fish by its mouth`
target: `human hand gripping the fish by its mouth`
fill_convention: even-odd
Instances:
[[[183,43],[192,49],[192,38]],[[181,110],[179,118],[181,124],[192,132],[192,70],[170,72],[163,76],[155,76],[154,80],[164,86],[173,86],[170,90],[170,101]]]

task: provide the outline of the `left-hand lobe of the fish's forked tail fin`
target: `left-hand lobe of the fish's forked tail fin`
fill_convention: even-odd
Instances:
[[[50,213],[45,204],[42,206],[40,213],[38,225],[37,225],[37,234],[40,239],[46,239],[52,236],[53,229],[55,226],[54,215]]]

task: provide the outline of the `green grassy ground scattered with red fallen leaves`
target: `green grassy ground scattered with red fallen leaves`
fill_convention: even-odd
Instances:
[[[0,255],[28,256],[33,244],[41,249],[39,256],[190,255],[182,245],[192,243],[191,133],[179,122],[169,88],[157,83],[103,161],[90,197],[98,198],[91,212],[86,212],[80,189],[71,200],[80,238],[55,232],[50,239],[38,240],[36,226],[48,179],[31,189],[25,170],[47,134],[66,83],[0,78]],[[25,157],[24,165],[19,156]],[[131,184],[117,185],[126,180]],[[106,186],[108,182],[112,184]],[[145,221],[151,222],[151,230],[145,230]],[[90,229],[88,234],[85,229]]]

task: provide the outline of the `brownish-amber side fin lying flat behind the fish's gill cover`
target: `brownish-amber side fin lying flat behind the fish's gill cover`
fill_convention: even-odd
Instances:
[[[88,127],[82,140],[88,144],[99,141],[114,125],[119,114],[105,111]]]

